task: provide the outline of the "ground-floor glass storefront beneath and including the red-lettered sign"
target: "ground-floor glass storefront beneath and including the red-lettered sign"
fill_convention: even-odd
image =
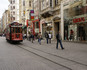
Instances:
[[[87,15],[79,15],[65,21],[64,39],[87,41]]]

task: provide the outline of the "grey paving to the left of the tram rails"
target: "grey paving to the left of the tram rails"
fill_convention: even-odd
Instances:
[[[35,56],[0,37],[0,70],[69,70]]]

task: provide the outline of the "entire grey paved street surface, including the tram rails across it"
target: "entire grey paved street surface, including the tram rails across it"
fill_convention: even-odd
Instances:
[[[63,42],[64,50],[56,41],[46,44],[24,40],[7,43],[0,38],[0,70],[87,70],[87,44]]]

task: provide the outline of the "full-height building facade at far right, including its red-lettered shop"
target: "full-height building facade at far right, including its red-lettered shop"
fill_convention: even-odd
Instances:
[[[72,13],[72,14],[71,14]],[[63,3],[64,40],[87,41],[87,1]]]

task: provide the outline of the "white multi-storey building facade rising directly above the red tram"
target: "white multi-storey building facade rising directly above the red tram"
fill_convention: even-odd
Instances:
[[[19,0],[9,0],[11,22],[19,22]]]

